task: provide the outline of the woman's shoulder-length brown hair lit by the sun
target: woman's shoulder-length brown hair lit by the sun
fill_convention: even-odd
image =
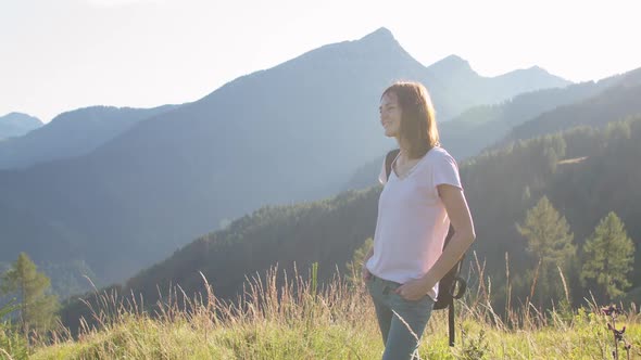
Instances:
[[[399,138],[410,146],[411,158],[423,157],[431,147],[439,146],[439,130],[433,105],[423,83],[415,81],[395,82],[382,95],[394,93],[401,106]]]

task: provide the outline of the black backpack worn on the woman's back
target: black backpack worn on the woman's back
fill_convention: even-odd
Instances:
[[[392,171],[392,163],[399,155],[399,149],[392,150],[385,157],[385,173],[388,180]],[[450,224],[450,230],[448,231],[448,236],[445,237],[443,248],[448,246],[448,243],[450,243],[450,240],[453,235],[454,228],[452,224]],[[458,262],[456,262],[456,265],[450,271],[448,271],[443,279],[439,281],[439,295],[437,297],[437,301],[433,304],[433,310],[442,310],[448,308],[450,346],[454,346],[454,299],[462,298],[463,294],[465,294],[465,290],[467,288],[465,279],[458,275],[461,273],[464,258],[465,254],[461,257]]]

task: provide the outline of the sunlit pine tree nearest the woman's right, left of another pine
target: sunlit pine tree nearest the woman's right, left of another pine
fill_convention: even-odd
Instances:
[[[565,294],[558,269],[567,272],[577,250],[573,244],[574,234],[569,231],[565,217],[543,196],[527,211],[525,223],[517,224],[517,229],[527,239],[527,250],[537,263],[535,273],[538,305],[543,306],[545,299],[561,301]]]

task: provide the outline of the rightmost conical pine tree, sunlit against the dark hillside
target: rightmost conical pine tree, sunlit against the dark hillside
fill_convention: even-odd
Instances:
[[[630,287],[628,274],[634,261],[634,243],[623,221],[611,211],[594,229],[583,246],[581,281],[595,280],[601,298],[606,301],[624,295]]]

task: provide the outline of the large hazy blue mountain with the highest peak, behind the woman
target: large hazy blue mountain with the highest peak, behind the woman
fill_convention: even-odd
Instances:
[[[482,91],[456,91],[437,76],[379,29],[240,77],[86,155],[0,171],[0,198],[65,229],[68,244],[81,239],[91,270],[122,280],[260,206],[336,193],[393,144],[377,114],[392,81],[427,83],[441,115],[487,99],[494,83],[478,77]]]

